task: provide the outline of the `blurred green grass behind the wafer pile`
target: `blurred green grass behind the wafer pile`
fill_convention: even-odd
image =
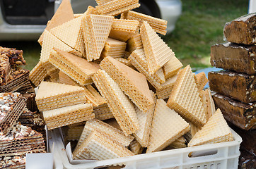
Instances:
[[[247,14],[248,4],[246,0],[184,0],[175,30],[162,38],[183,65],[190,64],[193,70],[211,67],[211,46],[223,42],[225,23]],[[39,61],[41,46],[36,40],[0,41],[0,46],[22,49],[26,69],[32,70]]]

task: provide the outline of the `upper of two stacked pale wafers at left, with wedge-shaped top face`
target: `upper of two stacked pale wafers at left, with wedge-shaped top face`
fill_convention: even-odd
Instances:
[[[40,111],[49,111],[55,108],[86,103],[83,87],[68,84],[41,82],[35,96]]]

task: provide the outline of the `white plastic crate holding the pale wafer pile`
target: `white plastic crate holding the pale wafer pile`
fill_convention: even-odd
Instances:
[[[80,164],[69,163],[62,134],[58,129],[49,131],[49,143],[50,152],[54,154],[54,168],[84,169],[123,163],[127,169],[233,169],[238,168],[239,146],[242,139],[233,130],[231,132],[234,137],[233,142],[206,144]],[[192,155],[192,157],[189,157],[189,155]]]

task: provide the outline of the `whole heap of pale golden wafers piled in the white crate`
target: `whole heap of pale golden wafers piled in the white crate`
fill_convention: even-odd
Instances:
[[[30,72],[48,129],[62,127],[67,141],[78,141],[73,158],[233,140],[203,90],[205,74],[194,75],[190,65],[181,69],[159,37],[167,22],[131,11],[138,0],[96,2],[74,15],[69,0],[62,1],[38,40],[40,61]]]

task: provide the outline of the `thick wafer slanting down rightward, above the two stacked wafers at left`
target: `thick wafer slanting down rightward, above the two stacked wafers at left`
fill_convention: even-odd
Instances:
[[[50,63],[82,86],[92,83],[91,76],[100,68],[97,63],[88,62],[66,51],[54,50],[56,52],[50,55]]]

